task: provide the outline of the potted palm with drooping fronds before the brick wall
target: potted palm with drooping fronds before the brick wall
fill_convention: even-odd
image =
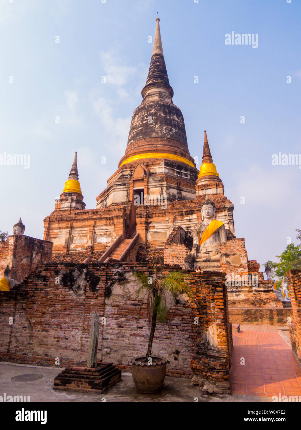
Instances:
[[[192,292],[188,283],[187,273],[180,271],[170,272],[158,276],[157,267],[154,266],[154,275],[146,276],[144,273],[135,272],[139,288],[137,297],[143,293],[146,297],[146,310],[149,317],[149,343],[145,356],[132,360],[132,377],[138,393],[157,393],[161,390],[166,374],[167,360],[152,356],[152,342],[154,340],[157,321],[166,319],[166,298],[169,293],[173,296],[185,293],[191,298]]]

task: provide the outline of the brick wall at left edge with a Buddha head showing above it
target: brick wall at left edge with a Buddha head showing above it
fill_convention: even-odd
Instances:
[[[52,261],[52,243],[29,236],[9,236],[0,243],[0,277],[8,264],[10,277],[20,283],[31,271]]]

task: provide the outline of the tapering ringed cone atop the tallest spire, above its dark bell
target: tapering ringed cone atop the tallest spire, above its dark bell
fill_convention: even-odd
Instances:
[[[173,103],[173,89],[169,85],[167,76],[159,22],[160,18],[156,18],[155,39],[154,46],[152,48],[152,58],[149,65],[149,74],[146,79],[145,87],[141,92],[143,97],[142,103],[153,100]]]

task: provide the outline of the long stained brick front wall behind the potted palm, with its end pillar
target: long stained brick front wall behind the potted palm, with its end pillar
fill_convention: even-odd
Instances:
[[[55,357],[61,365],[85,360],[91,318],[97,311],[105,321],[100,324],[98,359],[129,369],[131,358],[146,353],[149,336],[146,303],[135,294],[134,270],[153,273],[152,266],[143,263],[51,263],[31,273],[16,292],[0,292],[0,359],[48,365]],[[159,273],[171,270],[158,266]],[[214,279],[207,273],[190,282],[201,311],[185,295],[176,301],[168,297],[167,322],[157,324],[153,353],[169,360],[170,374],[182,377],[191,374],[192,356],[197,356],[194,369],[203,373],[215,369],[218,356],[214,381],[219,382],[228,375],[231,355],[226,289],[216,273]],[[12,326],[9,317],[14,318]],[[199,362],[202,354],[206,365]]]

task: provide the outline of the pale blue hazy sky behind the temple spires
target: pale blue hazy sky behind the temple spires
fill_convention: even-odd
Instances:
[[[27,165],[0,165],[0,230],[21,216],[43,239],[75,151],[96,207],[142,100],[158,12],[190,154],[199,168],[206,129],[236,236],[249,260],[276,261],[301,228],[301,155],[300,167],[272,164],[301,154],[301,2],[287,1],[1,0],[0,160],[25,154]],[[258,46],[226,44],[232,31]]]

